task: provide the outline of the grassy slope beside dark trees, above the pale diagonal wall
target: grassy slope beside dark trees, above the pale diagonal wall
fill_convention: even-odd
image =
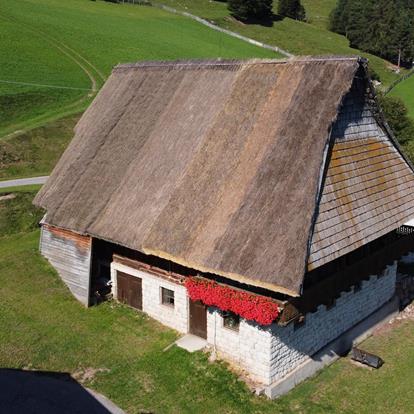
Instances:
[[[269,44],[275,44],[296,55],[363,55],[368,57],[372,67],[380,75],[384,84],[390,84],[397,78],[387,69],[387,62],[376,56],[352,49],[344,36],[327,30],[329,13],[335,0],[305,0],[303,2],[310,17],[309,23],[292,19],[274,22],[272,27],[257,24],[242,24],[229,16],[225,2],[210,0],[163,0],[163,3],[199,15],[227,29]],[[277,10],[277,1],[274,1]]]

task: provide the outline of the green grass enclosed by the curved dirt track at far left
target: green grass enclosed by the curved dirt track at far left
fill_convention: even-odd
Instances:
[[[53,108],[80,99],[86,91],[16,85],[2,81],[40,83],[88,89],[88,77],[67,56],[26,27],[1,18],[0,7],[0,131]]]

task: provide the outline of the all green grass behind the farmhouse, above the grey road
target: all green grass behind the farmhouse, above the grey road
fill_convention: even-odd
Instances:
[[[304,0],[310,24],[284,19],[273,27],[241,24],[219,1],[163,2],[295,54],[359,53],[326,29],[336,0]],[[87,107],[117,63],[280,57],[156,7],[100,0],[0,0],[0,40],[0,138],[7,138],[0,179],[49,173],[71,138],[66,120]],[[370,60],[385,84],[395,78],[385,61]]]

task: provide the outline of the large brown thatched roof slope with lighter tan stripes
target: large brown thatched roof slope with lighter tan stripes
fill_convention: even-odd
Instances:
[[[120,65],[35,203],[47,222],[300,293],[357,58]]]

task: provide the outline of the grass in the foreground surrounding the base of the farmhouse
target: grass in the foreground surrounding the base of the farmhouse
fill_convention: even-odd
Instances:
[[[201,353],[163,352],[176,333],[144,314],[115,303],[78,304],[38,253],[33,195],[19,193],[17,211],[15,201],[0,201],[2,231],[14,233],[0,237],[0,367],[105,368],[86,384],[129,413],[412,412],[413,322],[363,344],[385,359],[378,371],[342,359],[277,401],[254,397]]]

